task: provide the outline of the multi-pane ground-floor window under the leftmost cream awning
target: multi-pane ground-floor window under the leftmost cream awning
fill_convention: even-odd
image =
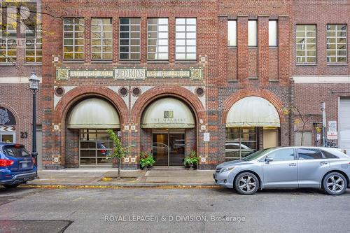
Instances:
[[[111,166],[113,142],[106,129],[80,129],[80,166]]]

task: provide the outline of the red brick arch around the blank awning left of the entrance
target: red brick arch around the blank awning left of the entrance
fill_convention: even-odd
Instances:
[[[127,122],[127,106],[123,99],[113,90],[108,87],[95,86],[95,85],[81,85],[79,87],[73,88],[59,100],[55,108],[55,123],[63,123],[66,114],[76,101],[83,99],[85,97],[103,97],[113,104],[120,116],[120,125]]]

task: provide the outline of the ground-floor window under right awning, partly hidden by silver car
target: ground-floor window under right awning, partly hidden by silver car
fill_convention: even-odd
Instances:
[[[226,160],[238,160],[256,151],[256,127],[226,128],[225,156]]]

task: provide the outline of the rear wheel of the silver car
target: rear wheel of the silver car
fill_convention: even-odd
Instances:
[[[323,178],[322,187],[329,195],[342,195],[347,187],[346,178],[337,172],[331,172]]]

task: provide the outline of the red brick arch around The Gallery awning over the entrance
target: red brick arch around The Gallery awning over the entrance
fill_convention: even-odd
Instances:
[[[198,120],[202,119],[203,122],[207,122],[207,116],[205,114],[205,108],[198,99],[198,97],[187,90],[184,87],[174,86],[174,85],[162,85],[161,87],[153,87],[150,90],[144,92],[135,102],[132,107],[132,122],[137,123],[140,122],[141,125],[141,115],[151,103],[155,99],[159,99],[161,97],[176,97],[186,102],[188,106],[190,106],[195,113],[195,118],[198,124]]]

